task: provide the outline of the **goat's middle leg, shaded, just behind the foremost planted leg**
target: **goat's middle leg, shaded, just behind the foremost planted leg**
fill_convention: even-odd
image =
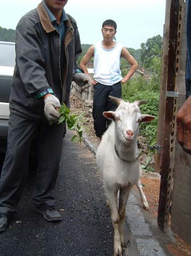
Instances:
[[[127,187],[120,188],[120,199],[119,199],[119,214],[120,214],[120,224],[119,224],[119,231],[120,231],[120,238],[121,238],[121,245],[125,246],[125,238],[124,238],[124,220],[125,220],[125,208],[126,203],[128,201],[129,192],[131,190],[132,185],[129,183]]]

